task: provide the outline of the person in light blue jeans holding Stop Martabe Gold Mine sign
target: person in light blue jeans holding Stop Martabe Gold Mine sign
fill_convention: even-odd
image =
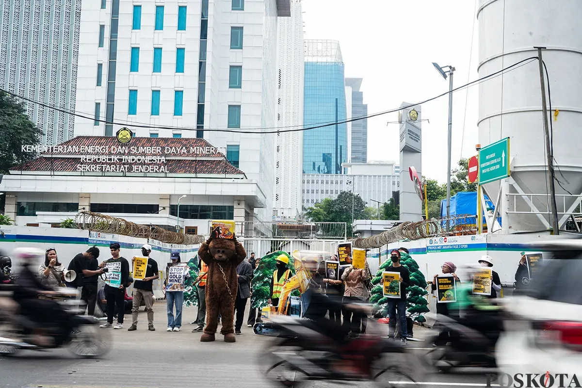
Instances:
[[[168,305],[168,329],[166,332],[179,332],[182,327],[182,306],[184,304],[184,280],[190,277],[187,265],[180,263],[180,253],[173,251],[170,255],[171,263],[166,266],[166,304]],[[176,316],[173,309],[176,305]]]

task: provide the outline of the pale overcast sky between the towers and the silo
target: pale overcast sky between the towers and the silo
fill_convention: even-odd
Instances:
[[[455,87],[478,78],[473,0],[303,0],[302,6],[305,38],[339,41],[345,76],[364,79],[368,114],[448,91],[449,81],[432,62],[455,66]],[[467,90],[453,94],[453,165],[461,156],[475,155],[477,92],[474,86],[468,95]],[[422,123],[421,172],[444,183],[448,97],[424,104],[422,114],[430,123]],[[399,161],[399,126],[386,126],[396,120],[397,113],[368,119],[368,161]]]

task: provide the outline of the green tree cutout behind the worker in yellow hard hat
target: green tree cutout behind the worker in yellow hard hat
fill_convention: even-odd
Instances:
[[[295,274],[295,267],[293,266],[293,258],[289,256],[287,252],[278,251],[272,252],[266,256],[263,256],[257,262],[257,268],[254,270],[253,282],[253,295],[251,296],[251,307],[261,309],[268,304],[268,300],[271,298],[269,295],[271,291],[271,279],[273,278],[273,273],[277,269],[276,258],[279,255],[286,255],[289,258],[289,264],[287,268],[291,270],[292,275]],[[293,291],[292,295],[299,296],[297,291]]]

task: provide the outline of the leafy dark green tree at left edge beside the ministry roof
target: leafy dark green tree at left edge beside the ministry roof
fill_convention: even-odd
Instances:
[[[23,152],[22,145],[40,143],[42,131],[26,115],[22,102],[0,91],[0,173],[37,155]]]

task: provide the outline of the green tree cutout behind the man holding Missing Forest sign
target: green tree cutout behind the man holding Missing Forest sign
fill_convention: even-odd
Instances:
[[[400,264],[405,266],[410,273],[410,285],[406,291],[401,290],[400,292],[406,292],[406,312],[410,318],[417,322],[425,322],[423,313],[430,311],[428,308],[428,301],[424,298],[428,294],[425,289],[427,286],[427,281],[424,278],[423,273],[418,267],[417,262],[407,253],[402,252],[400,257]],[[379,312],[384,316],[388,316],[388,301],[390,298],[384,296],[384,290],[382,287],[382,272],[389,271],[392,266],[392,261],[388,258],[384,261],[376,273],[374,279],[372,279],[372,288],[370,303],[374,304],[374,312]]]

